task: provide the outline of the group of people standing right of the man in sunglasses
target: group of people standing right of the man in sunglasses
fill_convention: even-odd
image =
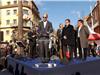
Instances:
[[[88,42],[89,30],[88,27],[84,25],[84,21],[82,19],[78,20],[78,26],[75,29],[73,25],[71,25],[70,19],[65,20],[65,25],[60,24],[59,29],[57,31],[57,36],[59,38],[58,49],[60,47],[62,49],[62,56],[65,57],[67,61],[72,60],[73,58],[78,58],[82,60],[86,60],[87,56],[90,55],[90,51],[93,56],[96,56],[95,46]]]

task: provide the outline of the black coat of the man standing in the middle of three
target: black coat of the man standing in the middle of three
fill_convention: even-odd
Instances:
[[[64,36],[66,36],[67,39],[65,39]],[[75,46],[75,31],[72,25],[63,28],[62,43],[63,45]]]

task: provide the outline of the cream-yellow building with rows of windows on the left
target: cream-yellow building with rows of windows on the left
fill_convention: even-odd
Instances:
[[[38,25],[40,20],[37,6],[32,0],[22,0],[23,32]],[[18,32],[18,0],[0,0],[0,40],[9,41],[17,38]],[[34,25],[34,26],[33,26]],[[13,35],[14,34],[14,35]]]

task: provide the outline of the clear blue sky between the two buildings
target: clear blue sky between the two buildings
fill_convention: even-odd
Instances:
[[[53,28],[58,29],[59,24],[65,24],[65,19],[70,19],[73,26],[77,20],[87,16],[96,4],[96,0],[34,0],[42,18],[48,13],[48,20],[52,22]]]

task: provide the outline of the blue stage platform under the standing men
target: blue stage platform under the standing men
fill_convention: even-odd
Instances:
[[[8,67],[13,67],[13,73],[15,72],[16,65],[19,73],[23,75],[75,75],[79,72],[80,75],[100,75],[100,57],[88,57],[86,61],[73,59],[68,64],[61,64],[60,60],[50,61],[43,64],[40,59],[20,58],[15,59],[8,57]],[[42,64],[40,67],[36,64]],[[47,64],[53,64],[51,67],[47,67]],[[79,74],[78,74],[79,75]]]

